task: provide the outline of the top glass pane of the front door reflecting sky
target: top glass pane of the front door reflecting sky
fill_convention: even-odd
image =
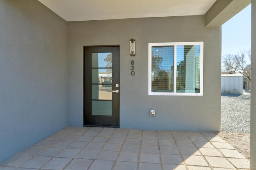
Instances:
[[[92,53],[92,67],[112,68],[112,53]]]

